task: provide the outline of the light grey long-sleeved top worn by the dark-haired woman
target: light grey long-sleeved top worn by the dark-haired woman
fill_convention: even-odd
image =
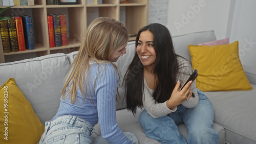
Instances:
[[[177,75],[177,80],[180,81],[182,86],[186,82],[188,77],[193,73],[193,68],[191,67],[190,63],[182,57],[178,57],[178,63],[179,63],[180,69]],[[191,90],[195,94],[195,97],[191,97],[189,100],[184,101],[182,103],[182,105],[187,108],[196,107],[198,104],[198,93],[197,93],[196,81],[194,81],[191,84]],[[153,92],[154,92],[154,89],[151,89],[147,86],[146,79],[144,77],[143,107],[145,108],[148,114],[150,114],[154,118],[158,118],[161,116],[165,116],[171,112],[175,112],[177,110],[177,107],[175,107],[173,110],[170,110],[166,106],[167,101],[164,103],[155,102],[155,99],[153,98]]]

